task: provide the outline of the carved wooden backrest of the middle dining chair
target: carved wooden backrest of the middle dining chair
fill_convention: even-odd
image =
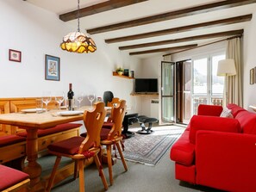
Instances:
[[[116,135],[122,134],[122,121],[126,113],[126,101],[120,100],[116,107],[112,108],[111,119],[114,122],[109,135],[109,139],[113,139]]]

